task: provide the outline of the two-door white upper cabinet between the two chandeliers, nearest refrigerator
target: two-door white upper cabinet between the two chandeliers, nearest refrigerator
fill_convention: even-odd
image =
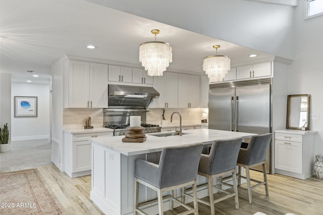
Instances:
[[[200,94],[200,77],[192,75],[178,75],[178,107],[198,108]]]

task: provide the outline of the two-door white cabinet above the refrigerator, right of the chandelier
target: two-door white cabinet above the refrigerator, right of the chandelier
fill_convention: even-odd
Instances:
[[[237,67],[237,79],[272,76],[272,62]]]

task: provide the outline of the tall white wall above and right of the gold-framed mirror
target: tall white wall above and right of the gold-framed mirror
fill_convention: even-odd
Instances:
[[[290,65],[289,94],[310,94],[310,130],[317,130],[316,153],[323,155],[323,16],[304,20],[304,5],[295,8],[295,59]]]

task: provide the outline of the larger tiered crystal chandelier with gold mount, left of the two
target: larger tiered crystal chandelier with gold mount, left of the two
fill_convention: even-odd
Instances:
[[[148,71],[148,76],[163,76],[163,71],[166,71],[173,61],[172,46],[166,42],[156,41],[159,32],[158,29],[152,29],[155,41],[144,42],[139,46],[139,61]]]

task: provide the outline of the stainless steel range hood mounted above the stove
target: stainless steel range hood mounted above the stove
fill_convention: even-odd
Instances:
[[[109,85],[108,106],[147,108],[153,98],[159,93],[153,87]]]

